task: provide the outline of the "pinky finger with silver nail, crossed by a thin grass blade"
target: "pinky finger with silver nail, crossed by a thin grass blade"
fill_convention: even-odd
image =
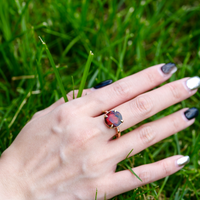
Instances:
[[[111,178],[108,179],[107,188],[109,188],[109,191],[106,192],[106,196],[107,198],[111,198],[142,185],[162,179],[177,172],[189,161],[189,156],[177,155],[152,164],[134,168],[133,171],[142,181],[140,181],[129,170],[116,172],[111,176]]]

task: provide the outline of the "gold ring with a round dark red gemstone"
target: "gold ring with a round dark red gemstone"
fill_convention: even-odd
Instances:
[[[116,138],[119,138],[121,136],[119,126],[124,122],[121,113],[116,110],[105,111],[104,113],[104,121],[106,125],[109,128],[115,128],[117,132],[115,136]]]

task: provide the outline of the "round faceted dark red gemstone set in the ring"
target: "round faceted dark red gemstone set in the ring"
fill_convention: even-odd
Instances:
[[[108,117],[105,116],[106,124],[111,127],[113,124],[113,128],[118,127],[122,123],[122,115],[118,111],[109,111],[106,113]]]

